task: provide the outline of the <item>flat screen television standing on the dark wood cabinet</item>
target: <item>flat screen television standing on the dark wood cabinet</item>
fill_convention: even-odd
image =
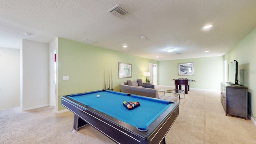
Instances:
[[[228,64],[228,82],[238,84],[238,62],[234,60]]]

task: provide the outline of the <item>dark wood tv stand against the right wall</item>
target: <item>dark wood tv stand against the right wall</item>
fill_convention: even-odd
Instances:
[[[246,87],[221,82],[220,102],[226,116],[239,116],[248,119],[248,92]]]

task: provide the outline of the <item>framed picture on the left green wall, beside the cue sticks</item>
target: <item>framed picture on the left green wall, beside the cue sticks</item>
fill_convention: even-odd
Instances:
[[[118,62],[118,78],[131,78],[132,64]]]

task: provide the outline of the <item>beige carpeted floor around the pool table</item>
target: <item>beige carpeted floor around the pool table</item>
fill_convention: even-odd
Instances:
[[[256,144],[256,125],[226,116],[220,92],[190,89],[179,109],[166,144]],[[0,144],[114,144],[92,126],[73,134],[74,114],[54,110],[49,106],[25,112],[20,107],[0,110]]]

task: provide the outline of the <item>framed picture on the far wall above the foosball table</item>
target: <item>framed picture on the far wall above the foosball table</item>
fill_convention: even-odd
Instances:
[[[178,75],[194,76],[194,62],[178,64]]]

